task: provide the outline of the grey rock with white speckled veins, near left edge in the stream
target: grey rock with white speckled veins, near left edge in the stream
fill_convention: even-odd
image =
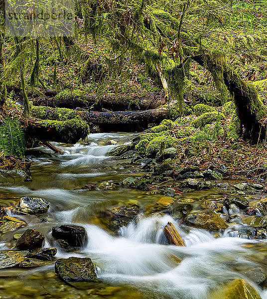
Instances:
[[[39,215],[46,213],[49,206],[50,203],[46,199],[26,196],[19,199],[17,210],[25,214]]]

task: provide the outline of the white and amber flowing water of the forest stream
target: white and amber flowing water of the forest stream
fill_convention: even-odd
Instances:
[[[108,156],[114,145],[129,142],[131,135],[92,134],[88,144],[58,145],[64,155],[46,150],[34,150],[31,182],[1,187],[0,204],[15,203],[20,196],[43,197],[50,201],[47,215],[19,216],[27,227],[46,236],[45,246],[54,246],[51,228],[60,224],[85,227],[88,244],[77,252],[60,251],[56,257],[90,257],[97,267],[99,283],[81,283],[74,287],[61,282],[54,274],[54,266],[31,270],[8,269],[0,271],[0,298],[131,298],[131,299],[207,299],[211,290],[234,278],[245,278],[244,271],[263,267],[267,269],[267,243],[235,237],[228,229],[221,238],[205,230],[178,225],[169,215],[145,216],[122,227],[119,236],[104,229],[98,218],[101,209],[127,202],[138,203],[141,209],[155,203],[160,195],[144,191],[118,188],[116,190],[89,190],[84,185],[101,181],[121,182],[136,168],[125,167]],[[43,150],[43,149],[42,149]],[[139,170],[140,171],[140,170]],[[198,191],[188,198],[215,196],[219,190]],[[238,211],[234,211],[238,213]],[[171,221],[184,240],[185,247],[165,245],[163,227]],[[12,236],[25,228],[3,235],[0,249],[13,245]],[[233,237],[229,237],[229,235]],[[12,243],[13,242],[13,243]],[[255,286],[255,285],[254,285]],[[267,293],[255,286],[263,299]]]

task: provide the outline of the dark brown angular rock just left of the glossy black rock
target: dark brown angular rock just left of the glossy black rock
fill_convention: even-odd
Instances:
[[[44,242],[44,235],[32,228],[28,228],[17,240],[16,247],[22,250],[41,248]]]

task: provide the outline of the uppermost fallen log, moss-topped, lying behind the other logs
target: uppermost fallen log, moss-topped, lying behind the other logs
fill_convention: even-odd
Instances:
[[[30,99],[35,106],[49,106],[59,108],[91,108],[100,110],[151,110],[165,104],[164,94],[148,93],[144,96],[129,96],[127,94],[110,94],[98,97],[95,93],[73,91],[73,93],[62,91],[55,97],[54,93],[46,91],[48,97],[37,97]]]

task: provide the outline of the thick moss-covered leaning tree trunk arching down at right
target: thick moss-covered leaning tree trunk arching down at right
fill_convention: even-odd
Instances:
[[[252,143],[266,139],[266,127],[263,127],[260,121],[266,116],[267,111],[255,87],[243,81],[225,61],[211,57],[206,51],[198,52],[192,58],[211,72],[215,68],[221,69],[224,84],[236,104],[237,114],[244,129],[243,137],[250,139]]]

